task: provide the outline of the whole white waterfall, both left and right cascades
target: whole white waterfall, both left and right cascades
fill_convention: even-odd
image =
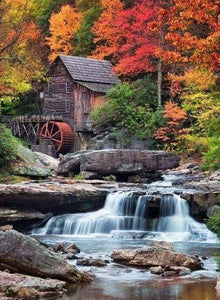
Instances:
[[[90,213],[65,214],[52,217],[34,234],[91,235],[112,231],[149,231],[147,228],[150,195],[137,199],[135,192],[110,193],[102,209]],[[160,216],[153,220],[152,234],[162,240],[216,240],[205,224],[189,214],[188,202],[179,195],[163,195]],[[150,235],[152,237],[152,234]]]

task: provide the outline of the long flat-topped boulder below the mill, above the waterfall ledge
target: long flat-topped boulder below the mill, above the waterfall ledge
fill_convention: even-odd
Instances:
[[[106,149],[82,151],[65,156],[59,166],[59,175],[94,172],[101,175],[131,175],[156,172],[179,166],[180,159],[165,151]]]

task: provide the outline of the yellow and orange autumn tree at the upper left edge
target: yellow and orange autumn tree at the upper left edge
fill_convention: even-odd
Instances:
[[[29,91],[43,77],[41,37],[32,21],[32,7],[31,0],[0,3],[0,95],[4,101]]]

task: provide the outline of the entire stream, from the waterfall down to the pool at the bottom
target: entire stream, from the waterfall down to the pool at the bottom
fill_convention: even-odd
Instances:
[[[32,232],[43,243],[76,244],[79,257],[107,260],[106,267],[81,267],[92,271],[90,285],[70,285],[62,299],[219,299],[215,290],[219,254],[218,239],[205,224],[190,216],[188,202],[181,198],[183,187],[173,186],[175,176],[150,184],[143,195],[135,190],[109,193],[105,205],[95,212],[52,217]],[[151,195],[162,195],[159,216],[149,216]],[[204,269],[181,277],[163,278],[146,269],[111,262],[115,249],[149,245],[152,240],[171,242],[177,252],[199,255]],[[76,264],[76,260],[71,261]]]

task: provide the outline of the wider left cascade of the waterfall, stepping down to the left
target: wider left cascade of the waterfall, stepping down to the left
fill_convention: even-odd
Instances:
[[[37,234],[109,234],[113,230],[144,230],[146,196],[135,200],[134,192],[110,193],[102,209],[92,213],[52,217]]]

